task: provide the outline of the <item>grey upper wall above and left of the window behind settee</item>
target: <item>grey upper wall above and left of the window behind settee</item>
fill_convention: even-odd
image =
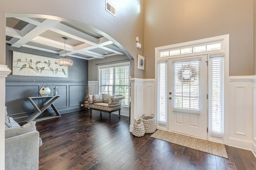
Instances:
[[[88,80],[98,81],[98,66],[130,62],[130,59],[126,55],[114,55],[106,57],[105,59],[94,59],[88,61]],[[96,65],[97,64],[97,65]]]

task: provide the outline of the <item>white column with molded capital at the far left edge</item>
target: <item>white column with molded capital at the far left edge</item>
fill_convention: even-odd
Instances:
[[[11,70],[0,65],[0,169],[4,170],[4,113],[5,113],[5,78]]]

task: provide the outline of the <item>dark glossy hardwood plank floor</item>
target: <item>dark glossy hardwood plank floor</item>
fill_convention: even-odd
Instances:
[[[36,123],[40,170],[253,170],[251,151],[226,146],[229,159],[129,132],[129,118],[77,111]]]

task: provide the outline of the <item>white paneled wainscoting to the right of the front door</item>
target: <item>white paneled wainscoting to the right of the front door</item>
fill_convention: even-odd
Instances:
[[[252,76],[230,76],[229,89],[228,145],[252,150]]]

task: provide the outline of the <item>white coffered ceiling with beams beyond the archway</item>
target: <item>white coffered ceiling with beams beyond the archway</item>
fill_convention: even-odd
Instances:
[[[27,17],[6,18],[6,43],[79,59],[104,59],[124,55],[112,41],[88,28],[60,20]]]

